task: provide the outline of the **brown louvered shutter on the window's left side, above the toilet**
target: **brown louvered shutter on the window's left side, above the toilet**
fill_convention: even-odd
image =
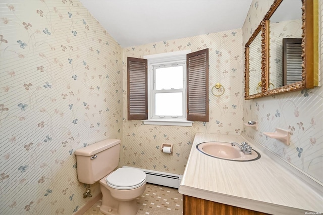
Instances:
[[[148,118],[147,60],[128,57],[128,120]]]

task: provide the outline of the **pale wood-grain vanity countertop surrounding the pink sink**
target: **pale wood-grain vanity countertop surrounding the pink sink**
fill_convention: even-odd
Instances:
[[[251,162],[210,157],[196,149],[198,143],[207,141],[239,144],[246,141],[261,157]],[[323,212],[320,193],[275,162],[260,145],[245,135],[197,133],[179,192],[270,214]]]

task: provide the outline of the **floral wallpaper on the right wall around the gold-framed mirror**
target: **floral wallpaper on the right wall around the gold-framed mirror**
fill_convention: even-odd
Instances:
[[[300,0],[299,0],[300,1]],[[248,41],[273,0],[252,1],[244,22],[243,44]],[[258,130],[244,127],[244,132],[273,151],[291,166],[323,182],[323,2],[319,2],[319,86],[314,89],[243,101],[243,121],[258,122]],[[297,25],[297,24],[296,24]],[[290,131],[291,143],[266,137],[263,132],[275,128]]]

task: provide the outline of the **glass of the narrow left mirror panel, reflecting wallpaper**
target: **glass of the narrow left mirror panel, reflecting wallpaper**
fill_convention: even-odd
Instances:
[[[249,45],[249,95],[261,92],[261,34]]]

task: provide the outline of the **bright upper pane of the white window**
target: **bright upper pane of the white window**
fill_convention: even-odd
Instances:
[[[155,89],[182,89],[183,66],[156,68]]]

